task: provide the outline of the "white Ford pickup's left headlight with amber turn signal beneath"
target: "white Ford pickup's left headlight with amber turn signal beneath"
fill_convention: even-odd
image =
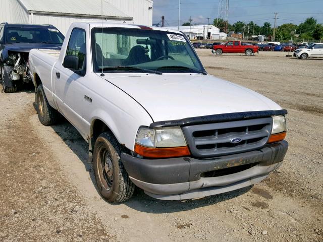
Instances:
[[[188,156],[190,151],[180,127],[140,128],[135,153],[149,158]]]

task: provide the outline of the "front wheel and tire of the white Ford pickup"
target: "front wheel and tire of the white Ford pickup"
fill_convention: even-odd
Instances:
[[[110,133],[102,133],[95,141],[93,169],[101,196],[111,203],[131,198],[135,185],[129,178],[120,158],[120,146]]]

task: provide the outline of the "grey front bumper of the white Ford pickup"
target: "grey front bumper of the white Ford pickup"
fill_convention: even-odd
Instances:
[[[182,200],[233,191],[258,183],[281,166],[288,143],[215,158],[141,159],[126,153],[121,160],[133,183],[153,198]]]

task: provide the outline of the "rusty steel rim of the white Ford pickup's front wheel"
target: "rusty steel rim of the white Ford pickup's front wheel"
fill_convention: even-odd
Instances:
[[[98,176],[102,187],[109,191],[113,186],[113,163],[110,152],[102,148],[99,152],[99,162],[97,162]]]

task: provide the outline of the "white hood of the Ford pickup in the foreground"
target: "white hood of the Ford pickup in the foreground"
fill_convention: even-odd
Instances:
[[[139,102],[154,122],[281,109],[254,91],[211,75],[128,75],[107,80]]]

